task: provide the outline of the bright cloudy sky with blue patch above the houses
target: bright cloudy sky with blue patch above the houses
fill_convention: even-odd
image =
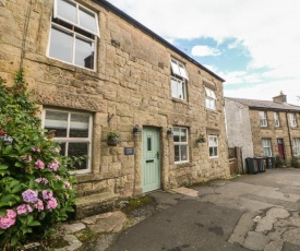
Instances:
[[[300,96],[299,0],[109,0],[226,80],[225,96]],[[155,14],[154,14],[155,13]]]

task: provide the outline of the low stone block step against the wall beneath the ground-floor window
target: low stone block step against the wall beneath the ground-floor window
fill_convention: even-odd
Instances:
[[[82,219],[88,216],[112,211],[118,199],[120,199],[120,196],[111,192],[81,196],[75,203],[75,218]]]

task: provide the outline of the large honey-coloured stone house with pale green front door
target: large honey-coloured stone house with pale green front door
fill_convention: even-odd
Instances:
[[[4,0],[0,13],[0,76],[24,69],[61,154],[88,156],[80,215],[229,175],[220,76],[107,1]]]

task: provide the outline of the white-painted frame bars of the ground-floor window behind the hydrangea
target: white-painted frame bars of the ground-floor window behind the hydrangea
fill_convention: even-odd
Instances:
[[[45,119],[46,119],[46,111],[60,111],[60,112],[68,112],[68,125],[67,125],[67,135],[69,135],[70,132],[70,121],[71,121],[71,113],[80,113],[80,115],[88,115],[89,120],[88,120],[88,138],[53,138],[55,141],[61,142],[61,143],[88,143],[88,158],[86,159],[87,162],[87,168],[86,169],[81,169],[81,170],[75,170],[75,171],[70,171],[70,174],[86,174],[91,172],[91,166],[92,166],[92,135],[93,135],[93,115],[89,112],[82,112],[82,111],[73,111],[69,109],[52,109],[52,108],[44,108],[41,112],[41,127],[45,128]],[[65,154],[68,153],[68,146]]]

